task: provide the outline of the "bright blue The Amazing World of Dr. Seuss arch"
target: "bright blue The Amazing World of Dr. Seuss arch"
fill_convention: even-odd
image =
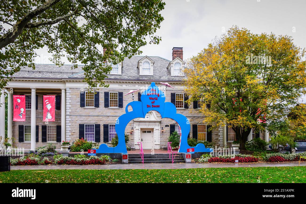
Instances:
[[[132,111],[128,111],[128,107],[132,107]],[[173,119],[181,127],[181,142],[178,152],[187,152],[187,149],[194,148],[194,152],[211,152],[210,148],[206,148],[204,144],[197,144],[191,147],[187,143],[187,137],[190,132],[189,120],[182,114],[176,113],[176,107],[170,102],[165,102],[165,95],[159,91],[158,86],[154,82],[141,94],[141,101],[132,101],[125,107],[125,114],[121,115],[115,124],[115,130],[118,135],[118,145],[108,147],[101,144],[96,153],[127,153],[125,145],[125,127],[135,118],[144,118],[149,111],[157,111],[162,118]]]

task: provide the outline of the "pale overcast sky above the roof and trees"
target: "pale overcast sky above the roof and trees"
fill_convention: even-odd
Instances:
[[[165,20],[157,35],[159,45],[141,47],[142,55],[172,59],[172,47],[183,47],[184,59],[196,55],[215,36],[237,25],[253,33],[289,35],[306,47],[306,0],[165,0]],[[46,49],[38,50],[36,63],[50,63]],[[62,59],[70,64],[67,59]],[[306,97],[304,97],[304,103]]]

